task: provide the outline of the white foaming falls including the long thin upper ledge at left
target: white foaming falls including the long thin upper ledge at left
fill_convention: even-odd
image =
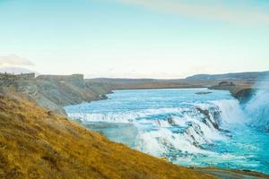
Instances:
[[[203,144],[213,141],[226,140],[215,129],[213,115],[211,119],[199,112],[196,107],[201,107],[210,112],[213,108],[221,112],[222,124],[239,122],[241,109],[239,103],[234,100],[210,101],[204,104],[189,105],[189,107],[143,109],[127,112],[110,112],[106,114],[69,113],[71,118],[79,118],[85,122],[109,122],[109,123],[132,123],[138,128],[136,149],[152,154],[157,157],[164,156],[171,149],[176,149],[189,154],[211,154],[211,151],[200,148]],[[172,114],[172,118],[156,119],[148,116]],[[206,123],[204,123],[204,120]],[[236,121],[238,120],[238,121]],[[184,132],[172,132],[169,128],[185,128]]]

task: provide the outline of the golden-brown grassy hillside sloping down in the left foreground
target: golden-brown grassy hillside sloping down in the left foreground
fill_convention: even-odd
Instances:
[[[52,115],[15,95],[0,96],[0,178],[211,178],[153,158]]]

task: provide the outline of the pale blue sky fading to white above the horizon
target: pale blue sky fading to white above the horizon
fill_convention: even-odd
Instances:
[[[267,0],[0,0],[0,65],[41,73],[265,71],[268,49]]]

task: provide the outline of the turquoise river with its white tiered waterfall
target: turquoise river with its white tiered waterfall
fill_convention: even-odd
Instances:
[[[112,141],[176,164],[269,174],[269,136],[251,127],[245,108],[229,91],[189,89],[116,90],[65,110]]]

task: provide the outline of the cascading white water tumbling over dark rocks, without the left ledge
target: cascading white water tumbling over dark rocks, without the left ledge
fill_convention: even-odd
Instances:
[[[158,130],[142,130],[137,138],[136,149],[157,157],[167,156],[171,150],[194,155],[209,154],[212,152],[203,149],[202,145],[228,138],[225,133],[221,133],[222,126],[225,129],[225,125],[243,123],[243,113],[235,99],[208,101],[184,109],[180,109],[179,116],[169,120],[155,120],[152,125],[156,126],[152,128]],[[168,128],[174,131],[184,129],[182,132],[173,132]]]

